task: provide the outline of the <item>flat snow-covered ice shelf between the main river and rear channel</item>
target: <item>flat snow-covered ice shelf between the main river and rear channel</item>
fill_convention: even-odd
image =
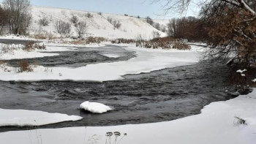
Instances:
[[[196,46],[193,46],[192,50],[160,50],[131,46],[125,49],[135,51],[137,56],[129,61],[89,64],[86,67],[75,69],[69,67],[51,67],[49,71],[47,67],[37,66],[33,68],[33,72],[20,73],[18,69],[4,67],[0,69],[0,80],[119,80],[123,78],[123,75],[127,74],[151,72],[167,67],[194,64],[199,61]],[[10,69],[10,72],[5,69]]]

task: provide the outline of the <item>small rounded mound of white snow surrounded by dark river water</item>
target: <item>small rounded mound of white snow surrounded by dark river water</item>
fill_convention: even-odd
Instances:
[[[89,102],[89,101],[83,102],[80,105],[80,109],[87,110],[91,113],[106,113],[109,110],[112,110],[112,108],[109,107],[108,105],[104,105],[98,102]]]

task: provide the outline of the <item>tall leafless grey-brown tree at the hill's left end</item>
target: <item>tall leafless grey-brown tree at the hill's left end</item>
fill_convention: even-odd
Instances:
[[[4,0],[8,24],[12,34],[25,34],[31,23],[31,5],[29,0]]]

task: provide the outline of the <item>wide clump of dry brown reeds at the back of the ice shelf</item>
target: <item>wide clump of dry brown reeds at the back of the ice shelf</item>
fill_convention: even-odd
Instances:
[[[173,37],[158,37],[148,41],[138,39],[136,47],[190,50],[190,46],[186,42]]]

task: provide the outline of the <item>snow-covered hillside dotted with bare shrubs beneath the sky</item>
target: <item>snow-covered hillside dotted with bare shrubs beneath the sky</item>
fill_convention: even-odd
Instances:
[[[109,39],[126,38],[136,39],[141,35],[145,39],[151,39],[153,37],[152,32],[158,31],[161,37],[165,37],[166,34],[162,31],[155,29],[150,24],[146,23],[143,18],[134,18],[124,15],[113,14],[99,14],[97,12],[84,12],[79,10],[67,10],[53,7],[38,7],[33,6],[31,8],[32,24],[30,28],[31,34],[49,33],[57,34],[55,23],[57,20],[64,20],[70,22],[70,19],[75,15],[78,20],[85,20],[88,28],[86,31],[87,36],[105,37]],[[92,18],[88,18],[87,14],[90,13]],[[50,23],[48,26],[39,26],[39,20],[41,18],[47,18]],[[115,29],[114,26],[108,22],[108,18],[118,20],[121,23],[119,29]],[[58,35],[58,34],[57,34]],[[75,25],[72,24],[71,35],[77,35],[75,32]]]

